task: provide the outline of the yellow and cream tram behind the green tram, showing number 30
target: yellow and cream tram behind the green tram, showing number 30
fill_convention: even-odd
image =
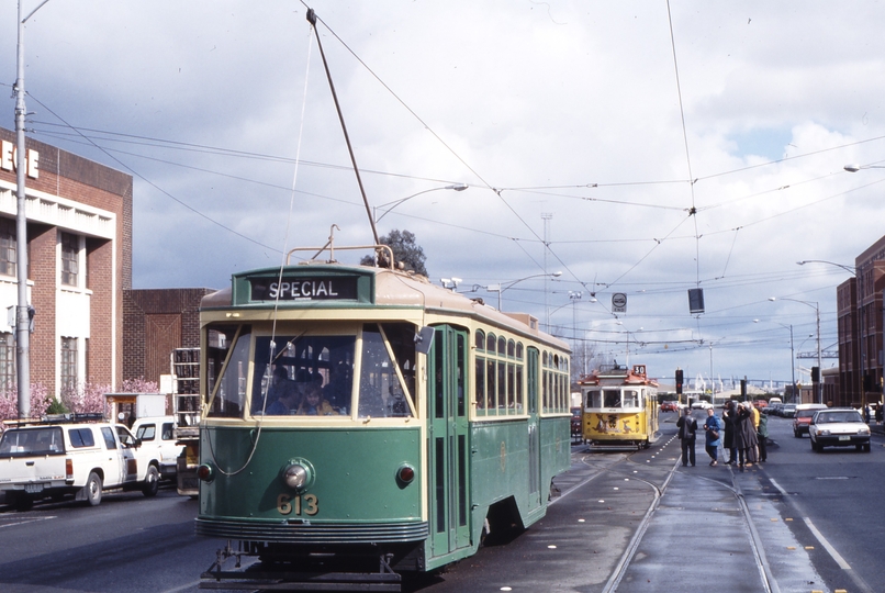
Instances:
[[[595,447],[646,448],[658,432],[658,382],[645,365],[602,367],[583,377],[583,439]]]

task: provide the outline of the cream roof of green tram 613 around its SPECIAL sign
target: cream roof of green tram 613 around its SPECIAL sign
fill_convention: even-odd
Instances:
[[[482,299],[470,299],[439,286],[436,286],[424,276],[406,272],[402,270],[392,270],[387,268],[374,268],[369,266],[349,266],[336,262],[317,262],[307,261],[298,266],[287,266],[280,275],[280,268],[261,268],[249,270],[242,273],[232,276],[231,286],[222,290],[212,292],[203,296],[200,303],[201,311],[231,309],[234,305],[234,287],[238,280],[249,277],[268,277],[268,276],[282,276],[288,273],[298,275],[299,277],[309,276],[312,272],[320,272],[325,275],[347,275],[357,272],[361,276],[371,276],[374,279],[373,303],[352,303],[355,309],[362,309],[367,306],[379,307],[415,307],[423,309],[435,313],[444,313],[450,315],[469,316],[474,320],[483,321],[491,325],[508,329],[511,332],[535,337],[541,342],[548,343],[552,346],[564,350],[571,350],[568,343],[541,332],[539,329],[538,318],[528,313],[509,313],[496,310],[484,303]],[[321,301],[280,301],[279,303],[273,300],[254,301],[248,303],[249,309],[268,309],[271,306],[281,306],[285,309],[303,309],[309,307],[312,310],[323,309],[325,306],[332,309],[340,309],[340,301],[321,300]]]

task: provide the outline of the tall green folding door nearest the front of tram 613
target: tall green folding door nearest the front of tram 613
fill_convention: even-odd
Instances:
[[[470,545],[468,517],[470,450],[468,443],[467,332],[435,327],[427,381],[427,451],[433,556]]]

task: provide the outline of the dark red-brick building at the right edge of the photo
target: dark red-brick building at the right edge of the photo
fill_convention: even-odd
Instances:
[[[854,259],[854,278],[836,289],[839,317],[839,403],[882,400],[885,236]]]

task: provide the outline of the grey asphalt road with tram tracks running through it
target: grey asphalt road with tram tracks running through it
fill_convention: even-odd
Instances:
[[[703,415],[698,412],[698,418]],[[811,451],[771,418],[769,462],[743,473],[682,468],[675,414],[638,452],[584,452],[562,494],[522,534],[493,534],[474,557],[406,591],[881,591],[885,438],[871,454]],[[108,494],[98,507],[0,507],[0,591],[197,591],[220,542],[193,534],[197,504]],[[509,589],[506,589],[509,588]]]

